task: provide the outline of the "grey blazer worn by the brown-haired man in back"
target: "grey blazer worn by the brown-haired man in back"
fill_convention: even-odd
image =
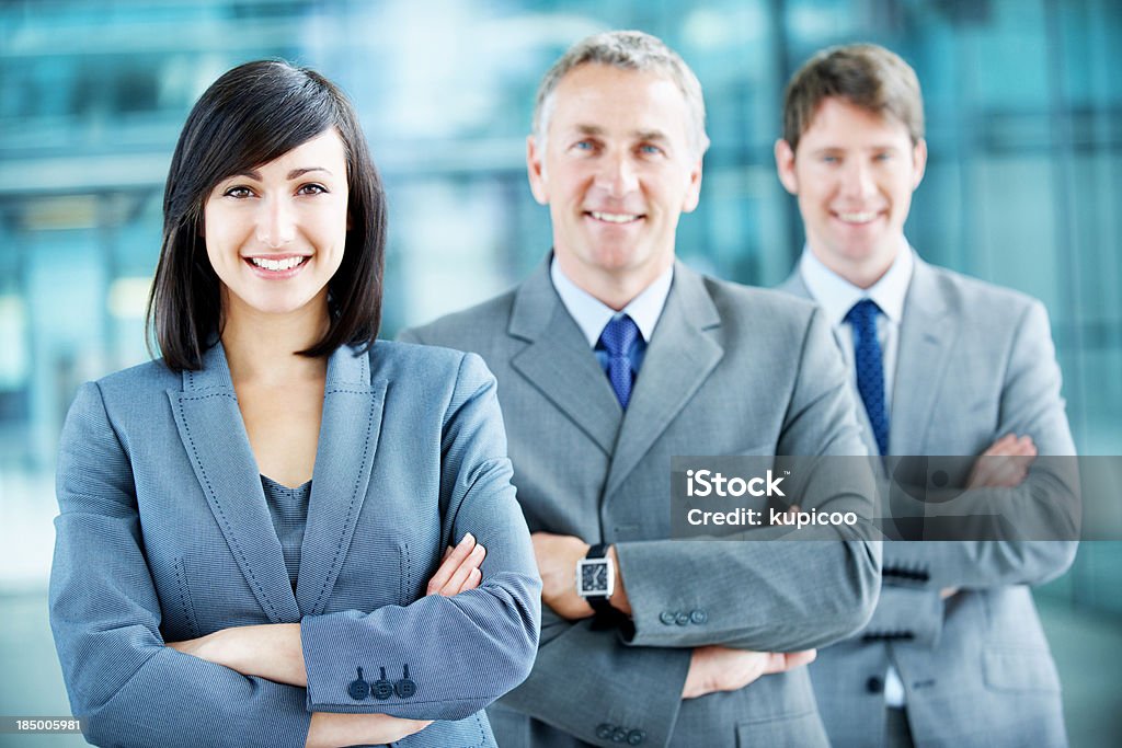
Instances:
[[[798,270],[781,288],[809,298]],[[1075,454],[1043,306],[917,257],[890,453],[976,455],[1010,432],[1030,435],[1042,455]],[[867,427],[864,435],[872,445]],[[1023,506],[1065,484],[1050,469],[1038,461],[1014,490]],[[811,665],[834,745],[882,745],[890,662],[917,746],[1066,745],[1059,681],[1028,585],[1063,574],[1075,551],[1059,541],[884,543],[873,619]],[[960,591],[944,601],[949,587]]]

